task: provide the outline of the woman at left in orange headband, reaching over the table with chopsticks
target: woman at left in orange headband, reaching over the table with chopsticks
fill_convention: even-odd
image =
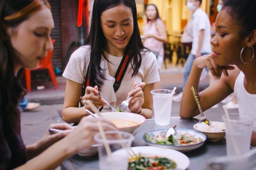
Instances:
[[[75,130],[66,123],[50,128],[35,144],[25,146],[21,138],[18,101],[25,95],[19,80],[22,68],[35,69],[46,52],[53,49],[50,32],[54,27],[47,0],[0,1],[0,169],[54,169],[63,160],[89,148],[98,132],[116,129],[106,120],[82,119]],[[33,158],[33,159],[32,159]],[[32,160],[31,160],[32,159]],[[26,161],[30,160],[28,163]]]

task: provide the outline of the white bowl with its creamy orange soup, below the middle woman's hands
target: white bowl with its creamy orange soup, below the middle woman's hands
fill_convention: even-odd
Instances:
[[[144,116],[129,112],[105,112],[101,113],[101,115],[103,118],[113,122],[118,130],[128,133],[132,133],[146,121]]]

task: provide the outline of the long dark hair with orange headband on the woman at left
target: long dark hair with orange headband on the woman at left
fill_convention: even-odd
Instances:
[[[7,116],[12,125],[19,123],[18,101],[25,95],[25,90],[19,83],[22,69],[14,75],[18,53],[11,45],[7,28],[17,27],[45,5],[50,8],[47,0],[0,1],[0,117]]]

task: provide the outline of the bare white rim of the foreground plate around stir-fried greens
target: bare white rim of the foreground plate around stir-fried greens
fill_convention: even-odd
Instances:
[[[185,170],[189,166],[188,156],[173,149],[160,148],[155,146],[137,146],[131,148],[136,154],[166,157],[177,164],[177,169]],[[122,149],[122,152],[125,150]]]

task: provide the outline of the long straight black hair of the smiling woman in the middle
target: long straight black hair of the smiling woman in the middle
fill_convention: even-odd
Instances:
[[[141,66],[142,56],[140,52],[145,48],[142,44],[139,34],[135,0],[94,0],[92,9],[91,28],[89,32],[89,37],[85,42],[86,45],[91,45],[91,56],[88,69],[90,75],[90,86],[92,87],[98,85],[98,87],[100,88],[103,85],[103,80],[106,80],[101,72],[102,68],[100,67],[102,55],[107,60],[103,52],[106,43],[106,38],[101,28],[100,16],[105,10],[108,10],[112,7],[116,7],[120,4],[124,4],[132,10],[134,25],[133,33],[125,50],[125,52],[130,52],[130,62],[133,63],[132,76],[138,73],[139,68]]]

